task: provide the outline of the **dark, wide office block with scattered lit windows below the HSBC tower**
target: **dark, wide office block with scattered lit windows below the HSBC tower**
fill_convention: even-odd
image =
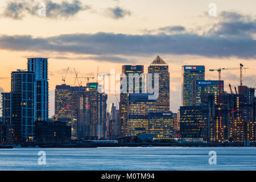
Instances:
[[[179,112],[181,138],[205,140],[207,137],[208,106],[181,106]]]

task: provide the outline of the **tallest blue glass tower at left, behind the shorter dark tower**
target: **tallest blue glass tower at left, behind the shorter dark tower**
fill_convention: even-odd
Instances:
[[[41,57],[28,58],[27,69],[29,72],[35,73],[35,120],[48,121],[48,59]]]

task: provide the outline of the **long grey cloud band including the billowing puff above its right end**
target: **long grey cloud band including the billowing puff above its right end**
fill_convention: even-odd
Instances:
[[[225,13],[221,17],[225,16],[231,15]],[[174,32],[172,34],[160,32],[159,34],[129,35],[98,32],[96,34],[63,34],[46,38],[35,38],[31,35],[0,35],[0,49],[73,53],[77,54],[74,59],[114,63],[133,61],[129,59],[131,56],[156,54],[256,59],[256,40],[253,39],[255,29],[246,26],[246,23],[253,24],[255,19],[241,14],[237,16],[241,16],[237,18],[237,22],[232,18],[225,21],[221,19],[205,34],[197,34],[195,31],[187,32],[182,26],[170,26],[159,28],[159,30],[172,31]],[[239,22],[241,22],[240,26],[235,26]],[[180,34],[175,31],[184,32]],[[65,59],[63,56],[59,58]]]

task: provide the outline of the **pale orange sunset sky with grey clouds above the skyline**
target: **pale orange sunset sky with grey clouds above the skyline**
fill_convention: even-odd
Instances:
[[[205,65],[205,78],[217,80],[209,69],[242,63],[249,68],[243,85],[256,87],[255,7],[255,0],[2,0],[0,92],[10,92],[10,73],[26,69],[26,57],[49,59],[50,116],[55,86],[68,67],[66,84],[74,85],[74,68],[81,77],[96,77],[97,67],[118,74],[125,64],[147,70],[159,55],[169,65],[174,112],[181,105],[182,65]],[[229,83],[239,85],[239,74],[222,72],[227,92]]]

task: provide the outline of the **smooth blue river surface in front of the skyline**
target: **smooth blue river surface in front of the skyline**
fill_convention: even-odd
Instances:
[[[45,165],[38,163],[39,151],[46,152]],[[217,164],[209,164],[210,151]],[[0,170],[256,170],[256,147],[0,149]]]

